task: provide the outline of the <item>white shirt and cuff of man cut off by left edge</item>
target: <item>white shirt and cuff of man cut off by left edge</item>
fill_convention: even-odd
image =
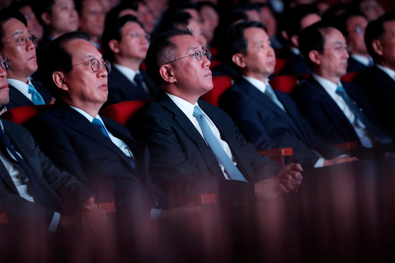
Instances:
[[[0,129],[4,131],[3,124],[0,120]],[[7,152],[9,156],[16,161],[16,158],[12,155],[12,153],[7,149]],[[22,156],[15,150],[15,152],[19,155],[19,157],[22,158]],[[23,158],[22,158],[23,159]],[[21,176],[26,176],[25,171],[23,170],[22,167],[19,165],[16,165],[15,163],[11,162],[8,160],[0,151],[0,161],[4,164],[5,169],[7,169],[8,174],[11,176],[12,182],[14,182],[14,185],[16,189],[18,190],[19,195],[28,200],[29,202],[34,203],[35,200],[31,194],[29,194],[29,190],[31,189],[31,184],[28,182],[28,184],[22,184],[19,178]],[[29,187],[29,189],[28,189]],[[56,231],[56,228],[58,227],[59,224],[59,219],[60,219],[60,214],[58,212],[54,212],[52,221],[49,224],[48,231],[54,233]]]

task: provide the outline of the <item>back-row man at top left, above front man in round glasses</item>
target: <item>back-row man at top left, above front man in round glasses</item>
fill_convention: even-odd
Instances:
[[[78,29],[78,13],[73,0],[40,0],[33,4],[33,11],[44,28],[44,37],[37,48],[41,52],[50,41]]]

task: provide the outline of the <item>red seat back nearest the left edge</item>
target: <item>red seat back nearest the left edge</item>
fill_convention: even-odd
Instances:
[[[24,125],[28,120],[50,107],[52,107],[52,104],[17,107],[1,114],[1,117],[19,125]]]

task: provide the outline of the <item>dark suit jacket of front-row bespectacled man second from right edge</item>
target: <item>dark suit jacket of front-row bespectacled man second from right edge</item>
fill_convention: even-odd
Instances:
[[[366,117],[373,124],[379,125],[376,113],[360,87],[343,81],[342,85]],[[310,122],[318,135],[332,144],[359,142],[350,121],[312,76],[300,88],[295,89],[291,95],[300,112]]]

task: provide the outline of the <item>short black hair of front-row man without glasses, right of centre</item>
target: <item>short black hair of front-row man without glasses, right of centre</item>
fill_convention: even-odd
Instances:
[[[248,28],[260,28],[268,33],[265,25],[257,21],[244,20],[229,27],[225,37],[225,62],[234,65],[232,56],[236,53],[247,54],[248,41],[244,38],[244,30]],[[238,67],[236,67],[237,69]]]

